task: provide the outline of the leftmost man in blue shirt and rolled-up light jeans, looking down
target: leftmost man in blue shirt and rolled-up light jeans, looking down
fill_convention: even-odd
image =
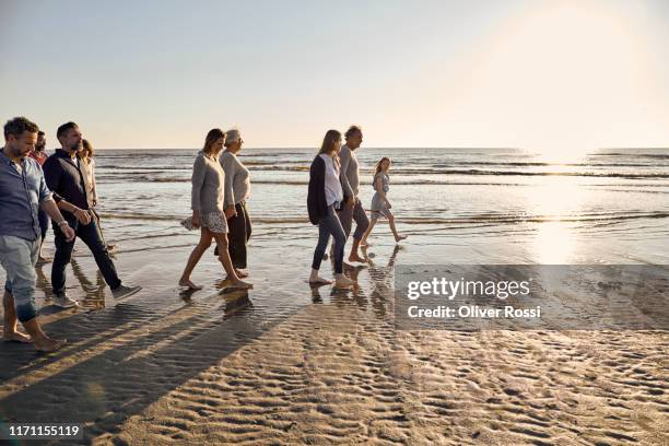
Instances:
[[[38,211],[43,209],[64,238],[74,239],[46,186],[42,167],[27,154],[35,149],[37,125],[24,117],[4,125],[0,151],[0,263],[7,271],[2,304],[3,339],[33,342],[39,351],[55,351],[64,340],[47,337],[37,321],[35,263],[42,243]],[[16,330],[20,320],[30,338]]]

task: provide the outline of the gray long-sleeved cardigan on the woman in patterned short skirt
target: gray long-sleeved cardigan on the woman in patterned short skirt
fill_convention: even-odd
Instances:
[[[225,173],[215,156],[198,153],[192,165],[190,208],[201,214],[223,212]]]

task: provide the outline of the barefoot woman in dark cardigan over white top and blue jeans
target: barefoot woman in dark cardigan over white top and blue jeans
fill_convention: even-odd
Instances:
[[[314,250],[312,262],[310,284],[330,284],[331,280],[318,274],[322,255],[330,240],[334,237],[334,287],[348,289],[355,284],[343,273],[343,253],[347,236],[341,222],[337,216],[337,209],[344,206],[343,189],[339,178],[339,150],[341,149],[341,133],[337,130],[328,130],[322,140],[318,155],[314,159],[309,169],[309,190],[307,195],[307,208],[309,221],[318,225],[318,244]]]

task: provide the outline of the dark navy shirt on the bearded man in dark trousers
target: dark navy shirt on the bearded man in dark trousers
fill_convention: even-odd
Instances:
[[[44,178],[56,202],[66,200],[80,209],[89,209],[84,177],[74,163],[68,152],[58,149],[42,166]]]

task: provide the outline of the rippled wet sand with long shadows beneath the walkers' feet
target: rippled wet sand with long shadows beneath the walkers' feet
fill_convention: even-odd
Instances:
[[[312,290],[310,259],[266,239],[248,294],[206,254],[191,295],[187,249],[121,251],[145,290],[117,305],[82,253],[68,285],[84,307],[39,300],[69,344],[0,344],[0,415],[79,422],[93,444],[669,443],[666,331],[397,331],[392,266],[420,253],[369,251],[359,291]]]

